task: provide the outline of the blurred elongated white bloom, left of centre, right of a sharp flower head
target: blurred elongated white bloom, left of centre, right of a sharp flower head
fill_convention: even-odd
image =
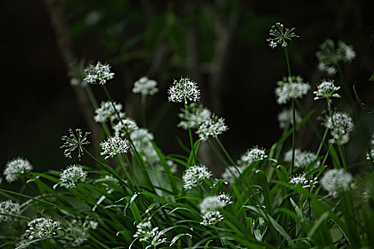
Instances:
[[[133,141],[137,152],[142,154],[142,157],[148,164],[157,164],[160,159],[157,152],[152,146],[150,140],[153,140],[153,134],[147,129],[140,128],[130,133],[130,139]]]

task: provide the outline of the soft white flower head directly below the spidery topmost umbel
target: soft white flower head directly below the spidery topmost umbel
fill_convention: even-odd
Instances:
[[[284,77],[279,80],[278,88],[275,90],[277,97],[276,102],[279,105],[286,104],[291,99],[297,99],[303,97],[308,93],[311,86],[308,83],[303,83],[303,78],[300,76]]]

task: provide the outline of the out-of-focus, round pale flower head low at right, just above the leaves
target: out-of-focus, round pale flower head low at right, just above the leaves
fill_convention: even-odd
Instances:
[[[352,175],[344,169],[330,169],[322,177],[320,183],[328,194],[338,196],[343,191],[348,191],[352,184]]]

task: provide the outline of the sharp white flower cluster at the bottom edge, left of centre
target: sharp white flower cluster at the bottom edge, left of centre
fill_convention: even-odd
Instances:
[[[150,243],[151,246],[164,243],[167,240],[166,238],[161,238],[162,233],[158,231],[158,227],[152,228],[150,221],[140,222],[136,228],[137,231],[134,234],[134,238],[139,238],[141,242]],[[155,240],[155,238],[157,239]]]

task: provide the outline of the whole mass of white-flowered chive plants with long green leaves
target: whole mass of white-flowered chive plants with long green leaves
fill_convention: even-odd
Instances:
[[[347,144],[357,135],[353,127],[360,120],[347,114],[354,110],[340,110],[333,101],[341,97],[342,79],[321,80],[313,90],[314,99],[324,107],[323,126],[315,127],[313,110],[305,110],[300,101],[311,86],[291,75],[286,50],[298,36],[294,28],[280,23],[270,35],[269,46],[284,50],[288,73],[276,86],[276,99],[291,105],[279,115],[282,134],[273,146],[253,147],[234,161],[219,140],[222,132],[230,136],[224,120],[194,103],[204,97],[198,84],[181,78],[172,83],[168,99],[184,103],[176,125],[188,130],[191,149],[187,154],[165,155],[145,122],[138,126],[122,112],[123,105],[113,101],[105,86],[115,75],[110,65],[89,65],[83,82],[90,99],[95,96],[88,84],[102,88],[108,97],[100,106],[93,101],[92,118],[102,125],[106,137],[100,143],[100,156],[90,152],[89,132],[69,129],[61,148],[73,164],[63,166],[61,173],[33,171],[21,158],[6,163],[4,178],[8,184],[19,180],[21,189],[0,189],[4,198],[0,200],[1,246],[370,248],[374,177],[365,165],[373,161],[374,137],[364,137],[370,148],[362,159],[368,161],[348,160]],[[338,67],[336,63],[354,58],[350,46],[339,43],[336,49],[328,44],[321,46],[323,56],[318,53],[326,66]],[[155,87],[152,80],[141,78],[133,91],[155,95]],[[300,143],[297,149],[297,128],[307,125],[318,148]],[[212,172],[214,165],[204,165],[199,157],[201,142],[225,166],[222,178]],[[72,157],[74,151],[78,158]],[[77,159],[84,163],[76,164]]]

